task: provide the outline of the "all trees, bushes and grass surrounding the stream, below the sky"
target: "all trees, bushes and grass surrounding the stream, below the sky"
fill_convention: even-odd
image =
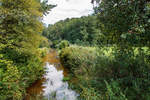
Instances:
[[[149,0],[91,0],[93,14],[48,27],[41,1],[0,0],[0,100],[23,100],[49,48],[78,100],[150,100]]]

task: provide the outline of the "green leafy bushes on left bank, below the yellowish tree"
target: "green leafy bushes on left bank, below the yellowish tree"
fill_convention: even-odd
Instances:
[[[44,73],[41,54],[0,47],[0,100],[22,100],[25,89]]]

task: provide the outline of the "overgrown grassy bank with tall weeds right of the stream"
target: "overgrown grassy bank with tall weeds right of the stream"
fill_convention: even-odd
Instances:
[[[64,67],[73,74],[72,88],[82,100],[148,100],[149,48],[71,46],[61,50]]]

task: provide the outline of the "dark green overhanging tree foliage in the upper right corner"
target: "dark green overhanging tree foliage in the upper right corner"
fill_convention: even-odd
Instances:
[[[149,45],[149,5],[148,0],[103,0],[98,20],[109,43]]]

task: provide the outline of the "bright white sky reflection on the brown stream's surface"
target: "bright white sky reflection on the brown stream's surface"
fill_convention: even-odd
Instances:
[[[46,98],[55,98],[56,100],[76,100],[76,92],[68,89],[68,83],[63,82],[63,71],[58,71],[54,65],[46,63],[46,82],[43,95]]]

